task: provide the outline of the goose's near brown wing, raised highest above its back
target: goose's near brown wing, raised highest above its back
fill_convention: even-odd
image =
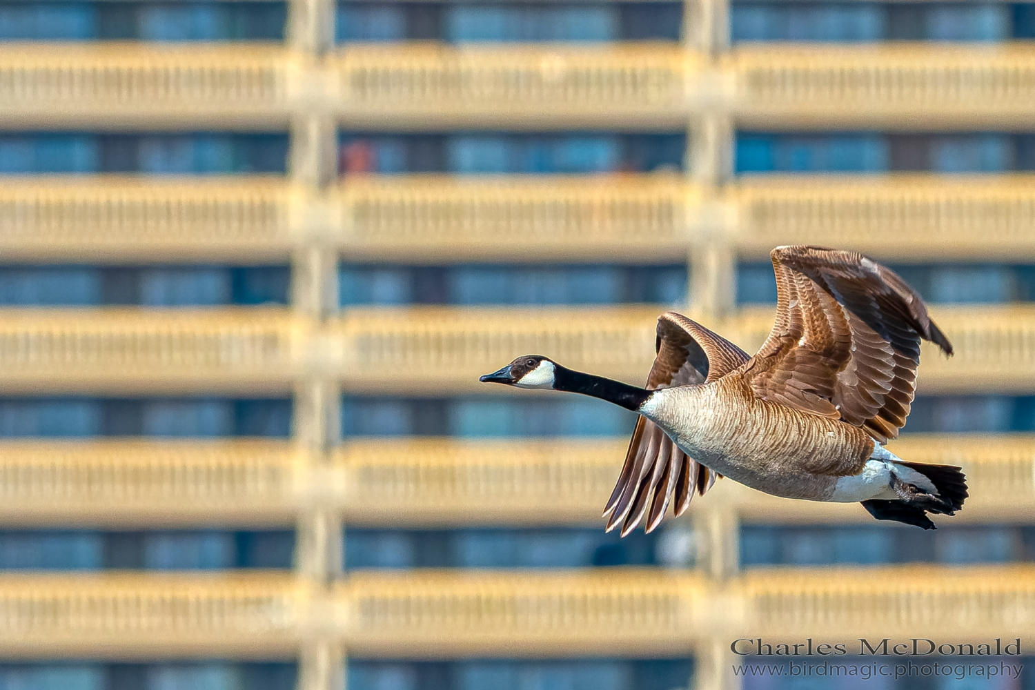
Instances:
[[[920,295],[893,271],[853,251],[776,247],[776,321],[744,369],[755,394],[898,436],[916,390],[920,340],[952,346]]]

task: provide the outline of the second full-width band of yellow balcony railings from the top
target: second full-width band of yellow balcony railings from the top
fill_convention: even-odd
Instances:
[[[1030,261],[1035,178],[757,176],[717,198],[674,174],[351,176],[307,197],[277,178],[0,182],[0,240],[34,261],[287,261],[308,238],[352,261],[685,261],[722,229],[740,256],[778,244],[884,261]]]

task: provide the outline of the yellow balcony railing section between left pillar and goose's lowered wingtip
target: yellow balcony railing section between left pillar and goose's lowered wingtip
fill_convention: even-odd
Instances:
[[[355,524],[594,523],[627,439],[352,441],[338,449]]]

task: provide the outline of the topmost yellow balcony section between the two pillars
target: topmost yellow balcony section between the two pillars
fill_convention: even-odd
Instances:
[[[367,44],[327,67],[351,127],[682,127],[715,97],[697,56],[671,44]]]

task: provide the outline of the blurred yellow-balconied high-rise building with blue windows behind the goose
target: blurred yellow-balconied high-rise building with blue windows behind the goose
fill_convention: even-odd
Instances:
[[[0,689],[860,687],[745,677],[737,638],[1023,663],[1033,37],[1008,2],[0,1]],[[604,534],[630,416],[477,376],[640,382],[671,307],[750,351],[792,242],[931,302],[957,354],[895,452],[964,464],[966,510],[724,481]]]

